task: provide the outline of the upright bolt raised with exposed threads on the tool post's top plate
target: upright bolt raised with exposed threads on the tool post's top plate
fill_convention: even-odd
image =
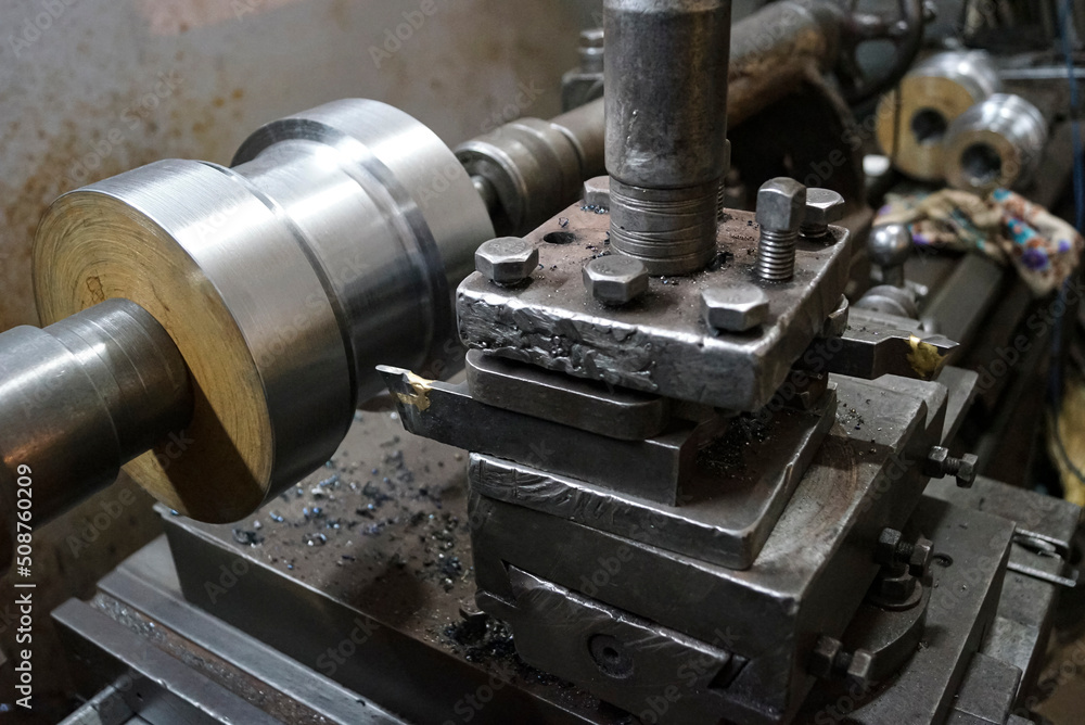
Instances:
[[[806,187],[780,177],[765,182],[757,192],[757,277],[766,282],[786,282],[795,276],[795,243],[806,215]]]

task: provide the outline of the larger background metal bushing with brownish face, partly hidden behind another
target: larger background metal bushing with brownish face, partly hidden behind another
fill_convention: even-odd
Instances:
[[[932,55],[878,104],[878,142],[893,165],[908,176],[942,180],[949,125],[1000,88],[995,64],[983,51]]]

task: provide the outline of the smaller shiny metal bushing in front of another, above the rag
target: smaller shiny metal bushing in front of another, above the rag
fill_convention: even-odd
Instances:
[[[981,195],[1027,185],[1039,168],[1047,138],[1047,119],[1039,109],[1020,96],[996,93],[949,126],[946,180]]]

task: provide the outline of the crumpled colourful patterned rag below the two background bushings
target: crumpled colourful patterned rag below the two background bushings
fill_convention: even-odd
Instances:
[[[1073,226],[1006,189],[986,199],[957,189],[891,194],[876,224],[907,224],[917,246],[979,252],[1012,264],[1037,297],[1061,287],[1085,246]]]

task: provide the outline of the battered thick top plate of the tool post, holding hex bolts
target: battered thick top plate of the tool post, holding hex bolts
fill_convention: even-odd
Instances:
[[[460,338],[469,347],[578,378],[731,410],[764,406],[837,308],[847,282],[847,230],[833,244],[799,242],[794,279],[753,274],[754,215],[728,212],[710,270],[652,278],[635,302],[611,308],[584,287],[582,268],[610,252],[610,216],[571,206],[527,236],[539,250],[531,281],[500,288],[474,274],[457,292]],[[769,296],[756,331],[719,333],[701,318],[701,291],[756,284]]]

